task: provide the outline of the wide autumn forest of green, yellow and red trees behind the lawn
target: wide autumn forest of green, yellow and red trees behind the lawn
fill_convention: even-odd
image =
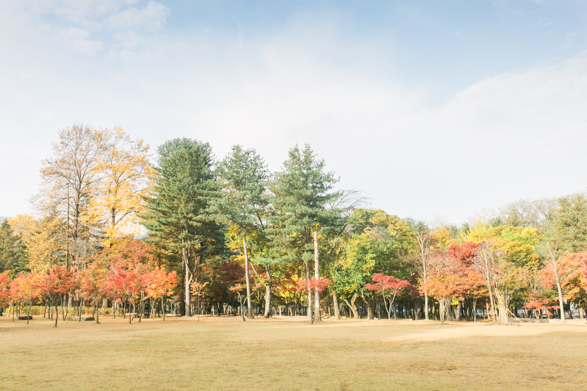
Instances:
[[[13,318],[584,318],[582,193],[429,227],[337,189],[310,145],[271,172],[241,145],[217,158],[178,138],[153,152],[82,124],[59,131],[39,173],[34,213],[0,225]]]

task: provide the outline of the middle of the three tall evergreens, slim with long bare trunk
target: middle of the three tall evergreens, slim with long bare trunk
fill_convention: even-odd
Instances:
[[[218,175],[223,185],[222,196],[215,199],[213,205],[220,222],[234,226],[242,237],[247,314],[251,319],[253,315],[247,236],[265,228],[269,203],[265,190],[269,172],[264,160],[254,149],[242,149],[241,145],[234,145],[231,153],[218,165]]]

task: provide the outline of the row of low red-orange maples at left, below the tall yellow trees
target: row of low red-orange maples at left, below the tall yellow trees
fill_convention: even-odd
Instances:
[[[69,310],[81,320],[83,304],[95,307],[96,323],[99,322],[99,304],[113,303],[112,314],[118,308],[124,317],[145,312],[155,312],[160,302],[165,320],[164,298],[174,293],[177,287],[176,271],[166,273],[154,257],[153,246],[140,240],[120,240],[112,247],[95,253],[93,259],[74,259],[72,266],[53,265],[47,273],[34,271],[0,274],[0,307],[9,307],[14,319],[15,312],[26,308],[27,317],[35,302],[43,302],[45,311],[59,318],[59,307],[65,319]],[[52,308],[55,311],[52,312]],[[139,318],[140,321],[140,318]]]

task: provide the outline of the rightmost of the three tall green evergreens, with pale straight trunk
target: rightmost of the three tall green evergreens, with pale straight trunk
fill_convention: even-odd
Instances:
[[[278,211],[271,218],[272,228],[269,232],[272,246],[282,261],[303,262],[308,283],[312,276],[310,262],[314,260],[313,232],[328,233],[341,223],[340,211],[328,208],[340,196],[340,192],[332,191],[338,178],[333,172],[325,172],[324,169],[325,162],[316,159],[308,144],[303,150],[296,145],[289,150],[289,158],[272,185],[275,195],[273,203]],[[316,302],[319,302],[318,292]],[[315,320],[319,321],[320,312],[318,305],[316,307]],[[312,319],[310,289],[308,317]]]

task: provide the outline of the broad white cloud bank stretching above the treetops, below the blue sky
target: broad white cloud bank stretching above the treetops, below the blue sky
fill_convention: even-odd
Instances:
[[[428,107],[426,91],[399,80],[376,41],[349,39],[335,23],[312,29],[300,18],[249,39],[209,31],[146,39],[168,11],[154,2],[120,9],[107,19],[117,43],[106,48],[82,25],[19,38],[31,50],[15,52],[25,66],[0,73],[0,129],[10,133],[0,165],[22,164],[0,183],[21,192],[2,195],[0,205],[14,205],[3,215],[25,208],[57,130],[76,122],[120,124],[152,145],[194,137],[220,156],[243,144],[272,169],[308,142],[342,176],[340,186],[422,220],[462,222],[481,208],[587,185],[586,53],[488,77]],[[69,45],[103,57],[74,56]]]

